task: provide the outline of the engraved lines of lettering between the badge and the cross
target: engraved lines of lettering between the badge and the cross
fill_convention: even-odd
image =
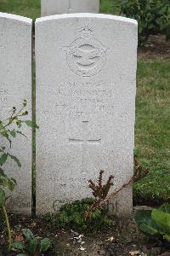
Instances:
[[[54,90],[59,115],[82,117],[84,114],[114,113],[114,86],[104,81],[94,83],[60,83]]]

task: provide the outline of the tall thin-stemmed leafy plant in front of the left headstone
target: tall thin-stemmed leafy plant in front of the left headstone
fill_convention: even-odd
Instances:
[[[20,131],[20,128],[23,124],[26,124],[29,127],[35,126],[37,128],[37,125],[34,125],[31,120],[25,120],[24,118],[26,115],[28,115],[28,112],[26,111],[26,100],[22,104],[22,108],[20,108],[19,111],[15,107],[13,107],[11,114],[8,119],[6,120],[0,120],[0,137],[3,137],[6,139],[9,143],[9,148],[12,147],[12,138],[16,137],[17,135],[25,136],[25,134]],[[10,128],[12,127],[12,128]],[[10,252],[11,249],[11,231],[8,221],[8,213],[6,210],[6,190],[9,189],[10,191],[14,190],[14,187],[16,185],[16,180],[13,177],[8,177],[6,174],[3,166],[7,162],[8,159],[13,160],[18,167],[21,167],[20,160],[14,156],[13,154],[8,152],[7,145],[0,144],[0,211],[3,212],[7,230],[8,230],[8,252]],[[1,216],[1,218],[3,218]]]

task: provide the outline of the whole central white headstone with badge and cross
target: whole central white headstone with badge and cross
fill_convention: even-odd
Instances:
[[[112,15],[37,19],[37,213],[92,196],[100,170],[113,189],[133,176],[137,30]],[[132,199],[129,186],[117,211]]]

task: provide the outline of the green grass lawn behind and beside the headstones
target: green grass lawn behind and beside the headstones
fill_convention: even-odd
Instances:
[[[100,12],[119,14],[120,2],[102,0]],[[35,20],[40,0],[0,0],[0,11]],[[134,201],[161,203],[170,200],[170,61],[139,61],[137,87],[135,154],[150,175],[134,184]]]

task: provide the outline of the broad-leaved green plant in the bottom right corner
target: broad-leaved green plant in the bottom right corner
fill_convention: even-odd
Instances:
[[[170,204],[154,210],[139,210],[135,221],[144,234],[170,242]]]

